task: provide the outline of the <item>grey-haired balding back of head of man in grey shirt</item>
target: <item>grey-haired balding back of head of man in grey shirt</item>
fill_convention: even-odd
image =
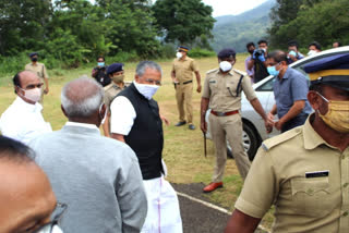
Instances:
[[[64,85],[61,103],[68,118],[88,118],[99,109],[104,96],[100,84],[82,76]]]

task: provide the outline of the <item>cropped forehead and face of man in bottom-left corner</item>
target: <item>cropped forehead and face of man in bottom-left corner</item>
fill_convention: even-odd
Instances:
[[[57,206],[48,177],[34,162],[34,151],[24,144],[0,136],[1,233],[59,229],[56,221],[50,222],[50,216],[64,205]],[[53,219],[60,217],[58,214]]]

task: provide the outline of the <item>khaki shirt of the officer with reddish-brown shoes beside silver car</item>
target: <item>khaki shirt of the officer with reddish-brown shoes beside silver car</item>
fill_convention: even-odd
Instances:
[[[241,90],[243,90],[249,100],[256,98],[251,86],[251,79],[248,76],[243,76],[237,93],[241,75],[243,74],[236,70],[222,74],[219,69],[206,73],[202,97],[209,99],[210,109],[217,112],[240,110]]]

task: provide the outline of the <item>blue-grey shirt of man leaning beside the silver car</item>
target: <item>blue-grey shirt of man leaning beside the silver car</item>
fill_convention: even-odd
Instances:
[[[284,77],[281,79],[276,77],[274,82],[274,96],[278,118],[282,118],[297,100],[305,100],[305,106],[299,116],[311,113],[312,108],[306,99],[308,91],[306,77],[301,72],[287,68]]]

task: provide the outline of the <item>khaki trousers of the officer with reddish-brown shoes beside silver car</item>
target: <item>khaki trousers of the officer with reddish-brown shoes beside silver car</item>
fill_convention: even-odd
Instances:
[[[216,150],[216,165],[213,182],[221,182],[227,162],[227,140],[231,147],[239,173],[244,180],[251,162],[242,145],[242,122],[240,113],[227,116],[209,114],[209,130]]]

